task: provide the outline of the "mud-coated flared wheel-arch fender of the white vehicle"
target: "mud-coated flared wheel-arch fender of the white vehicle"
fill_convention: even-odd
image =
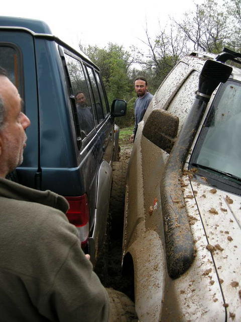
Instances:
[[[139,224],[142,225],[141,222]],[[127,252],[134,263],[135,303],[139,320],[159,322],[167,275],[160,236],[154,230],[147,230],[143,233],[142,242],[135,240]]]

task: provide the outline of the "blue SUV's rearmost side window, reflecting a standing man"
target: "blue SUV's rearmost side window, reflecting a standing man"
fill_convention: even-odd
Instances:
[[[94,117],[88,84],[81,62],[65,54],[66,64],[75,98],[78,126],[81,138],[84,139],[94,128]]]

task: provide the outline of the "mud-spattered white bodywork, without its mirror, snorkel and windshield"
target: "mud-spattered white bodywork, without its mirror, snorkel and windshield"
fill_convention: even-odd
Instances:
[[[217,90],[204,112],[179,179],[184,203],[178,193],[173,200],[175,207],[185,207],[195,249],[192,264],[176,278],[171,278],[167,270],[160,189],[169,154],[143,135],[144,125],[156,109],[176,115],[180,133],[206,58],[184,57],[159,87],[138,125],[127,177],[123,266],[131,256],[134,272],[130,274],[134,274],[140,322],[241,320],[241,186],[239,195],[215,189],[205,176],[196,176],[196,169],[188,168]],[[241,81],[241,72],[234,68],[231,77]]]

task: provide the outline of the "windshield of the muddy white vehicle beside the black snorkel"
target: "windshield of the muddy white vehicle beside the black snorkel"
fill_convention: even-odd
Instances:
[[[212,103],[192,164],[241,178],[241,87],[226,82]]]

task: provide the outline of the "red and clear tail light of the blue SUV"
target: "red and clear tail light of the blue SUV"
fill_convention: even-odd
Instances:
[[[86,194],[79,197],[65,197],[69,203],[66,216],[79,232],[81,246],[84,248],[89,236],[89,204]]]

